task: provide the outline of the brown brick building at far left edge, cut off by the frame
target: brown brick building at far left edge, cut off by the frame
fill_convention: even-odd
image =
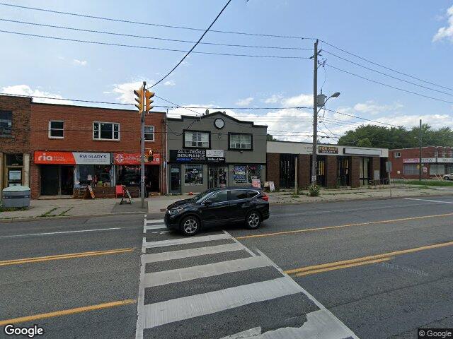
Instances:
[[[30,185],[30,97],[0,95],[1,190]]]

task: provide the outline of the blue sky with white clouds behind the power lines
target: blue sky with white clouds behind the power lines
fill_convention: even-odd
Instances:
[[[205,29],[226,0],[133,3],[119,0],[1,0],[0,3]],[[0,19],[0,30],[10,32],[0,32],[1,93],[127,104],[133,102],[133,89],[142,81],[147,81],[148,85],[158,81],[185,52],[52,40],[11,32],[180,51],[190,49],[193,46],[190,42],[202,35],[200,30],[82,18],[2,5]],[[6,20],[189,42],[66,30]],[[314,54],[311,38],[319,38],[322,40],[319,42],[319,60],[325,63],[319,66],[318,90],[322,89],[328,96],[337,91],[341,93],[340,97],[331,98],[326,108],[407,128],[418,126],[419,119],[435,128],[453,128],[452,0],[232,0],[212,30],[307,39],[208,32],[202,42],[287,49],[199,44],[195,52],[268,57],[190,54],[171,76],[153,88],[156,95],[183,107],[209,107],[210,112],[217,111],[217,107],[229,107],[221,110],[238,119],[268,125],[268,132],[275,138],[309,141],[312,110],[289,107],[313,105],[314,63],[309,58]],[[38,98],[35,102],[119,107]],[[169,104],[156,97],[154,105]],[[258,107],[270,109],[253,109]],[[162,109],[156,107],[156,110]],[[195,114],[193,111],[205,112],[205,108],[169,109],[168,113],[176,117]],[[323,142],[336,143],[345,131],[371,123],[339,113],[321,109],[319,135],[326,136],[322,138]]]

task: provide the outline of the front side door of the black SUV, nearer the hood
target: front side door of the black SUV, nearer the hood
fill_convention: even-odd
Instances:
[[[218,191],[207,198],[202,203],[200,215],[205,225],[228,222],[231,218],[231,215],[229,215],[228,191]]]

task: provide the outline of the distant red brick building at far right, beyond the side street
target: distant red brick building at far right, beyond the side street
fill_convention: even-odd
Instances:
[[[391,177],[418,179],[420,173],[420,148],[389,150]],[[453,172],[453,148],[426,146],[422,148],[422,178],[428,179]]]

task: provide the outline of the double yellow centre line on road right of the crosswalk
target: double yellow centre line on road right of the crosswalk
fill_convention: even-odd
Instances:
[[[340,267],[340,266],[344,266],[343,268],[352,267],[352,266],[355,266],[354,265],[355,263],[369,263],[370,261],[380,260],[383,258],[386,260],[389,260],[391,256],[401,256],[401,254],[425,251],[426,249],[438,249],[440,247],[447,247],[447,246],[452,246],[452,245],[453,245],[453,242],[442,242],[441,244],[414,247],[412,249],[402,249],[401,251],[393,251],[393,252],[387,252],[387,253],[383,253],[383,254],[376,254],[374,256],[362,256],[362,258],[355,258],[355,259],[350,259],[350,260],[345,260],[345,261],[336,261],[333,263],[321,263],[320,265],[293,268],[291,270],[285,270],[284,272],[287,274],[296,273],[296,276],[299,276],[298,273],[314,272],[314,270],[320,270],[320,272],[322,272],[324,268],[333,268],[333,267]],[[301,274],[301,275],[304,275],[304,274]]]

